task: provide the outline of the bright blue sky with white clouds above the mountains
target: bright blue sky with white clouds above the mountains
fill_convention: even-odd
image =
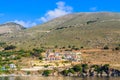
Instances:
[[[30,28],[77,12],[120,12],[120,0],[0,0],[0,24]]]

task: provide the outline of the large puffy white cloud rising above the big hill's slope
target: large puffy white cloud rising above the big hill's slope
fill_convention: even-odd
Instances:
[[[39,20],[41,22],[47,22],[56,17],[60,17],[72,12],[73,8],[71,6],[67,6],[65,2],[59,1],[56,3],[57,7],[54,10],[49,10],[43,17]]]

